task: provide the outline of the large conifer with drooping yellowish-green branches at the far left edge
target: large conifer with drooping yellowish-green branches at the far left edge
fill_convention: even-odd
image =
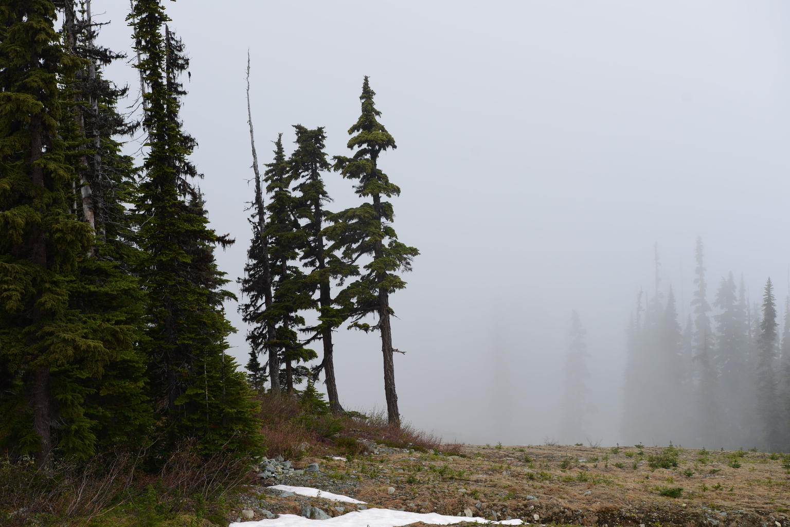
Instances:
[[[0,442],[44,470],[145,421],[141,378],[122,371],[140,366],[138,306],[117,298],[136,286],[93,258],[92,225],[73,209],[69,149],[85,143],[73,84],[85,62],[63,49],[55,16],[45,0],[0,6]],[[117,396],[129,397],[122,408]]]

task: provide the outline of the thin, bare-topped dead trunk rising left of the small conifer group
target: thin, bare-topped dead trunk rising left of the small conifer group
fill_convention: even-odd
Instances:
[[[246,98],[247,98],[247,124],[250,125],[250,146],[252,148],[252,169],[255,174],[255,205],[258,208],[258,235],[261,239],[263,281],[264,281],[264,305],[266,309],[272,307],[272,276],[269,269],[269,237],[265,235],[266,218],[264,216],[263,190],[261,188],[261,173],[258,171],[258,152],[255,151],[255,134],[252,126],[252,109],[250,108],[250,51],[247,51],[247,76],[246,76]],[[268,319],[266,324],[266,340],[274,338],[274,323]],[[272,344],[265,344],[269,350],[269,379],[272,382],[272,393],[279,394],[280,388],[280,357],[277,356],[277,348]]]

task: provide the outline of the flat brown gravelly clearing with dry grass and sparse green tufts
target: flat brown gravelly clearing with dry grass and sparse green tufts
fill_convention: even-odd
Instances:
[[[790,527],[790,456],[673,446],[463,446],[457,455],[370,443],[367,454],[263,460],[230,521],[357,507],[274,491],[316,487],[414,512],[554,525]]]

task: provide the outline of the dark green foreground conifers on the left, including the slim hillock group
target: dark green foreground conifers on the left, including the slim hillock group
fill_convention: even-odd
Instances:
[[[204,454],[254,453],[254,389],[267,372],[255,365],[258,353],[276,372],[275,392],[280,375],[284,390],[319,369],[329,381],[331,334],[347,320],[382,334],[397,423],[389,293],[404,287],[395,273],[417,251],[390,225],[386,198],[399,190],[378,155],[395,143],[376,120],[367,78],[350,130],[353,156],[330,164],[323,130],[296,126],[290,158],[278,141],[265,173],[256,170],[241,279],[254,328],[247,378],[226,354],[235,329],[223,305],[234,295],[214,258],[234,240],[208,226],[190,161],[196,141],[179,117],[184,44],[160,0],[135,0],[127,21],[141,84],[137,120],[118,111],[127,88],[104,77],[125,57],[97,43],[89,0],[0,6],[0,448],[33,455],[45,471],[119,444],[149,446],[156,463],[186,438]],[[145,137],[138,158],[122,152],[130,134]],[[326,211],[330,168],[355,180],[367,201]],[[304,326],[307,310],[318,322]],[[367,314],[378,314],[374,326],[362,322]],[[307,371],[314,341],[323,360]]]

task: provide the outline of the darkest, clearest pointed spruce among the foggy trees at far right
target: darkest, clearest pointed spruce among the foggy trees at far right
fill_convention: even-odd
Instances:
[[[776,378],[773,375],[774,361],[777,358],[777,306],[773,296],[773,284],[769,278],[762,294],[762,321],[758,343],[757,397],[758,415],[762,420],[763,444],[766,449],[778,450],[781,446],[779,436],[779,406],[777,405]]]

